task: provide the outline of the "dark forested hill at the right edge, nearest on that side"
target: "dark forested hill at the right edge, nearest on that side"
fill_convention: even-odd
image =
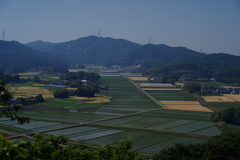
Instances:
[[[165,66],[151,67],[142,71],[145,75],[215,78],[218,82],[240,84],[240,56],[225,53],[208,54],[203,57],[179,61]]]

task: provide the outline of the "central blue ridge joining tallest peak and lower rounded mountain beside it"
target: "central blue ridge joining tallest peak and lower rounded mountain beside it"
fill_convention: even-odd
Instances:
[[[49,56],[58,56],[70,65],[76,64],[169,64],[204,56],[184,47],[140,45],[124,39],[88,36],[63,43],[32,42],[26,44]]]

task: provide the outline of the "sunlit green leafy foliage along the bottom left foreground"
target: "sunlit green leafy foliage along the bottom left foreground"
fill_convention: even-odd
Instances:
[[[66,146],[64,136],[34,135],[34,143],[22,141],[11,144],[0,136],[1,160],[140,160],[141,157],[131,149],[132,139],[119,142],[117,146],[106,145],[96,151],[76,146]]]

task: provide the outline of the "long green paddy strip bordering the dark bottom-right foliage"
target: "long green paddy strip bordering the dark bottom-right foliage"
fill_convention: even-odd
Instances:
[[[160,143],[154,144],[152,146],[137,149],[137,151],[142,152],[142,153],[158,154],[160,150],[165,149],[167,147],[174,146],[175,143],[196,144],[196,143],[202,143],[205,141],[206,141],[206,139],[179,137],[179,138],[175,138],[172,140],[166,140],[164,142],[160,142]]]

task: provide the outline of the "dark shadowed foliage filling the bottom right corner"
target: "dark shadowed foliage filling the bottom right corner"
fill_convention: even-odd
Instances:
[[[175,144],[162,150],[154,160],[237,160],[240,159],[240,135],[215,136],[202,144]]]

